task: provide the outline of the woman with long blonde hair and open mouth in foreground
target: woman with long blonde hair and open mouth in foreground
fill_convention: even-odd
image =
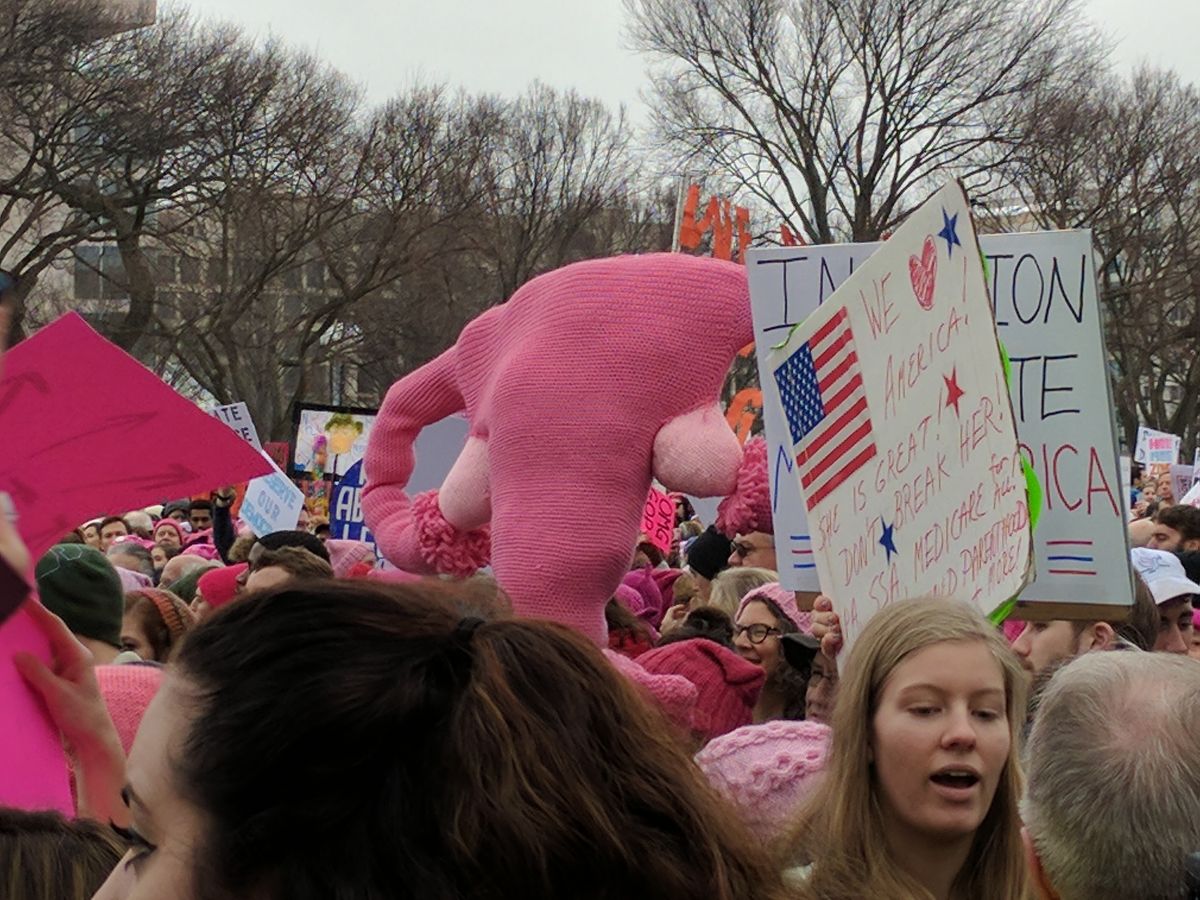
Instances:
[[[800,896],[1022,900],[1025,677],[1000,631],[905,600],[854,646],[826,778],[790,840]]]

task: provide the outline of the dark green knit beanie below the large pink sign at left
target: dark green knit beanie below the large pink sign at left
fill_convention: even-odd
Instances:
[[[112,563],[85,544],[58,544],[37,560],[37,593],[79,637],[121,646],[125,590]]]

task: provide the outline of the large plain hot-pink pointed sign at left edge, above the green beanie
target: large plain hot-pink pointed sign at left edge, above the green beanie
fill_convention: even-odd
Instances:
[[[0,490],[34,558],[94,516],[206,494],[270,468],[74,313],[6,354],[0,432]]]

